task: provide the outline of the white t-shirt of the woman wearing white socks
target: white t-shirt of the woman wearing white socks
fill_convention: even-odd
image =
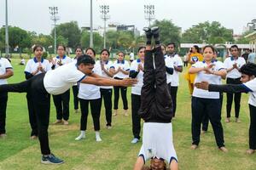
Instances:
[[[92,71],[101,75],[102,67],[99,62],[96,62]],[[100,87],[93,84],[80,83],[78,97],[79,99],[100,99]]]

